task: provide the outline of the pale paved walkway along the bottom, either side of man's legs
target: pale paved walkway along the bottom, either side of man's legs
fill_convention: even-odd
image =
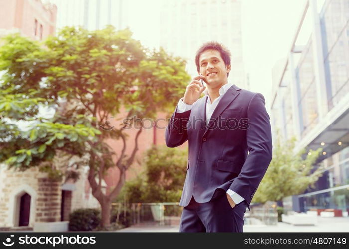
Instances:
[[[349,217],[317,217],[315,226],[295,226],[284,222],[277,225],[244,225],[244,232],[349,232]],[[116,232],[178,232],[177,226],[137,225]]]

